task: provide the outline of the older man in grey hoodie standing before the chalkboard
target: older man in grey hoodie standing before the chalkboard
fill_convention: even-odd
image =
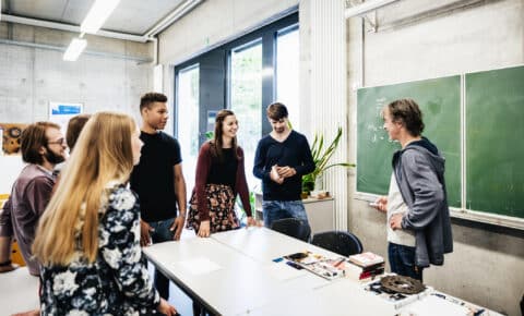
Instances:
[[[444,182],[444,158],[424,131],[422,113],[412,99],[383,109],[384,130],[402,148],[393,155],[388,196],[376,208],[388,214],[391,271],[422,280],[422,269],[443,265],[453,251]]]

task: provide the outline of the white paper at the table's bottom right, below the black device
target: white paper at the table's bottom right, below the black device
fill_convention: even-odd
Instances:
[[[438,297],[436,295],[428,295],[420,301],[414,302],[406,306],[407,312],[402,315],[416,315],[416,316],[466,316],[469,315],[469,309],[465,306],[455,304],[448,300]]]

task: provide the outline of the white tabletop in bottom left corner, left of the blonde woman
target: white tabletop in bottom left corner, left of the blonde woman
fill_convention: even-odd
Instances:
[[[40,307],[38,277],[26,267],[0,274],[0,315],[11,315]]]

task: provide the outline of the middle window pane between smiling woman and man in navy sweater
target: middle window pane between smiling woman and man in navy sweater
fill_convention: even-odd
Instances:
[[[233,49],[230,56],[230,108],[239,123],[238,144],[245,151],[249,187],[253,189],[259,183],[252,172],[254,151],[262,136],[261,39]]]

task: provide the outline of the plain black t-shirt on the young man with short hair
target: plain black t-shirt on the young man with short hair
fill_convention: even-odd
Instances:
[[[142,156],[131,173],[131,189],[140,198],[145,221],[159,221],[177,216],[174,166],[182,162],[178,141],[158,132],[140,133],[144,142]]]

